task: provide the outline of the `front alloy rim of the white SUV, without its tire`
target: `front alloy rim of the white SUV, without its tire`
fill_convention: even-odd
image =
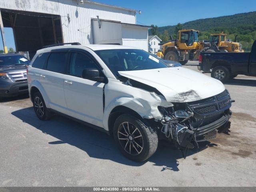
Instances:
[[[118,127],[118,140],[122,148],[131,155],[138,155],[143,149],[140,130],[130,122],[123,122]]]

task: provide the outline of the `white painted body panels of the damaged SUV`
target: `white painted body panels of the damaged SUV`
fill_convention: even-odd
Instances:
[[[224,91],[224,85],[193,70],[183,67],[152,70],[122,71],[122,76],[156,88],[162,95],[122,83],[98,57],[94,50],[129,48],[118,45],[56,46],[38,50],[36,56],[58,48],[78,48],[86,50],[102,66],[108,78],[104,84],[28,67],[28,87],[40,90],[46,107],[53,108],[74,118],[108,130],[108,118],[116,106],[125,106],[136,111],[143,118],[161,120],[158,106],[170,107],[171,102],[191,102],[214,96]],[[92,50],[93,48],[94,50]],[[43,78],[40,75],[44,75]],[[65,84],[68,80],[72,84]],[[103,109],[103,88],[105,107]]]

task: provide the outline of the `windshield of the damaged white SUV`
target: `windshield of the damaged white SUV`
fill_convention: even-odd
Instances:
[[[115,49],[95,52],[115,76],[119,75],[118,71],[168,68],[162,61],[144,50]]]

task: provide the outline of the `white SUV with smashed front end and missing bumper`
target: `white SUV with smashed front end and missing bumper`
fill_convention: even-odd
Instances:
[[[38,50],[28,86],[39,119],[57,112],[104,130],[135,161],[152,156],[160,139],[181,150],[197,147],[226,130],[231,116],[232,100],[219,80],[126,46]]]

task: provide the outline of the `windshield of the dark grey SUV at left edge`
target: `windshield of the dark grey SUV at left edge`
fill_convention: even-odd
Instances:
[[[0,66],[10,66],[10,65],[28,65],[30,61],[22,55],[5,55],[0,56]]]

